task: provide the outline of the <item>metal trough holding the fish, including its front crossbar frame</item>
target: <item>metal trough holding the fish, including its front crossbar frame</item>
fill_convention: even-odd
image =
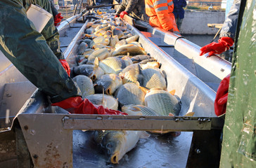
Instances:
[[[65,49],[65,58],[70,66],[75,64],[78,43],[86,25],[87,22]],[[72,115],[49,106],[46,96],[37,90],[24,104],[12,127],[20,139],[16,143],[19,165],[218,167],[219,137],[224,122],[215,116],[215,91],[169,57],[158,43],[151,43],[132,25],[127,24],[127,27],[133,34],[139,34],[139,43],[162,64],[161,69],[167,75],[167,90],[176,90],[175,94],[181,99],[181,116]],[[195,112],[195,115],[182,117],[188,111]],[[91,139],[91,132],[83,130],[169,130],[180,131],[181,135],[151,134],[150,138],[141,139],[136,148],[124,155],[119,165],[111,165],[106,163],[104,155]]]

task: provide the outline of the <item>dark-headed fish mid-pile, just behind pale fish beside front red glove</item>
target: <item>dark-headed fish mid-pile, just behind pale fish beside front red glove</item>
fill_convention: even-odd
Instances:
[[[105,94],[112,95],[122,85],[122,78],[115,73],[105,74],[98,78],[94,84],[100,88],[103,87]]]

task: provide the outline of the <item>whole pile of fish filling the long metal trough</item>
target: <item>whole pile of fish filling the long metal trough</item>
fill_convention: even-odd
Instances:
[[[174,90],[167,91],[165,73],[138,42],[139,35],[132,34],[113,13],[98,10],[91,14],[98,20],[87,22],[77,49],[77,64],[72,67],[82,97],[129,115],[179,116],[179,97]],[[95,141],[114,164],[136,146],[139,138],[146,137],[149,134],[142,131],[94,132]]]

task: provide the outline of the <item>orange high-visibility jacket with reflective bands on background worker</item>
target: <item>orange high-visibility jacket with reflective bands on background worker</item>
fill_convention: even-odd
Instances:
[[[146,14],[151,17],[149,24],[152,27],[160,27],[165,30],[179,32],[174,14],[172,0],[145,0]]]

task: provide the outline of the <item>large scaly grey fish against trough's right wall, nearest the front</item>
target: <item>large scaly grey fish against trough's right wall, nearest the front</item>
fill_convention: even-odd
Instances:
[[[145,106],[153,109],[160,116],[179,116],[181,102],[172,94],[161,89],[151,89],[146,93]]]

